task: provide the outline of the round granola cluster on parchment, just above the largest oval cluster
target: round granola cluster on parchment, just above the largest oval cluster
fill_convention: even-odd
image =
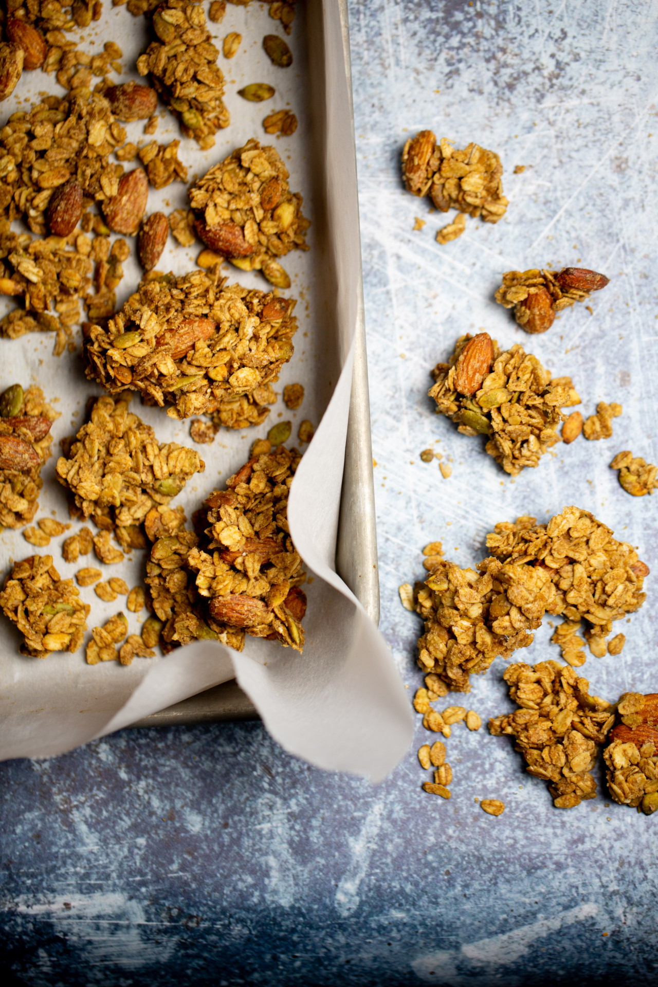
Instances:
[[[277,288],[290,287],[277,258],[308,250],[311,225],[288,177],[275,148],[252,139],[189,189],[200,239],[242,270],[261,270]]]

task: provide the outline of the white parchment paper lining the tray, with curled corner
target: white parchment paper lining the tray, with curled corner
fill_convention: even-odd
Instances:
[[[109,5],[106,4],[106,8]],[[306,398],[299,412],[291,413],[279,399],[261,429],[220,432],[212,446],[202,446],[205,473],[193,478],[177,503],[187,515],[203,496],[222,486],[246,461],[252,442],[279,418],[293,421],[293,439],[302,418],[319,422],[316,436],[306,451],[292,487],[288,520],[295,545],[309,570],[305,587],[309,608],[305,620],[307,642],[303,655],[269,642],[248,638],[238,653],[213,643],[180,648],[165,658],[135,659],[128,667],[116,662],[90,666],[82,651],[57,653],[47,659],[23,657],[18,653],[19,635],[3,620],[0,660],[0,758],[45,757],[70,750],[81,743],[110,733],[157,712],[234,675],[255,702],[272,735],[291,753],[313,764],[351,771],[379,780],[398,763],[412,733],[412,718],[390,650],[350,590],[334,571],[335,537],[342,480],[345,432],[351,385],[353,336],[360,281],[360,246],[354,140],[345,73],[343,44],[337,4],[298,5],[289,43],[294,53],[291,69],[271,65],[261,49],[265,34],[280,34],[276,22],[259,3],[247,8],[229,6],[223,22],[209,29],[215,43],[231,31],[242,34],[238,55],[219,62],[227,77],[227,106],[231,126],[220,131],[215,147],[201,152],[182,139],[180,157],[189,166],[189,176],[203,174],[235,147],[256,135],[267,137],[262,118],[274,110],[290,107],[299,118],[292,138],[279,139],[276,146],[291,173],[291,188],[302,190],[305,212],[313,220],[308,254],[298,252],[285,259],[293,278],[290,294],[298,298],[300,329],[295,354],[281,374],[277,389],[300,381]],[[308,24],[306,23],[308,14]],[[116,40],[123,49],[129,70],[122,77],[137,78],[131,70],[143,48],[145,25],[125,8],[104,10],[101,22],[82,33],[84,50],[96,53],[103,41]],[[312,58],[308,58],[308,52]],[[237,95],[243,85],[270,82],[275,97],[265,104],[249,104]],[[12,100],[3,104],[6,118],[17,108],[25,109],[39,91],[61,92],[52,77],[26,73]],[[128,124],[128,139],[144,138],[142,123]],[[178,124],[162,113],[155,139],[163,142],[180,137]],[[185,187],[170,186],[160,193],[150,191],[149,211],[171,209],[185,203]],[[161,269],[183,272],[193,268],[198,247],[189,251],[170,245]],[[124,265],[125,277],[117,301],[134,290],[140,269],[131,259]],[[257,274],[227,266],[230,281],[260,288]],[[53,458],[42,476],[44,487],[37,518],[67,519],[66,499],[54,476],[59,440],[74,433],[82,423],[86,401],[99,389],[86,381],[79,354],[51,355],[53,338],[26,336],[20,341],[0,341],[2,386],[14,381],[37,382],[48,398],[55,400],[61,418],[53,427]],[[134,399],[134,411],[152,424],[161,441],[176,439],[191,444],[189,422],[175,422],[163,410],[143,408]],[[322,418],[322,420],[321,420]],[[293,440],[291,439],[291,441]],[[77,525],[74,523],[72,530]],[[83,565],[96,564],[84,557],[76,565],[61,559],[61,542],[53,539],[39,554],[52,554],[62,576],[72,576]],[[13,559],[26,558],[34,549],[20,532],[4,531],[0,538],[0,563],[6,571]],[[105,567],[104,579],[120,575],[132,586],[143,575],[144,553],[133,553],[118,566]],[[107,621],[124,608],[119,597],[102,603],[93,588],[82,589],[92,605],[89,627]],[[124,611],[125,612],[125,611]],[[141,619],[126,613],[130,633],[137,632]]]

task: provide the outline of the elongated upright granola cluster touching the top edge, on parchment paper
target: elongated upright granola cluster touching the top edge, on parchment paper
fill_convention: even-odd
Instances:
[[[162,101],[181,121],[185,137],[207,150],[218,130],[229,125],[224,105],[224,74],[217,65],[200,0],[165,0],[153,13],[152,41],[137,59]]]

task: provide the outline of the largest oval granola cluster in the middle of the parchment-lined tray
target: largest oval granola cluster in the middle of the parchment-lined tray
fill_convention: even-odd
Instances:
[[[259,424],[294,351],[294,306],[271,292],[224,287],[218,267],[146,278],[107,330],[89,329],[87,376],[110,393],[127,387],[172,405],[171,418]]]

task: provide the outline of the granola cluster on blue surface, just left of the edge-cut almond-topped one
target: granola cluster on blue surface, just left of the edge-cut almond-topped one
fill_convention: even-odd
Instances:
[[[615,721],[610,703],[590,696],[589,682],[569,665],[517,662],[503,674],[519,709],[489,721],[494,736],[509,734],[528,774],[548,782],[556,808],[596,796],[592,769]]]

